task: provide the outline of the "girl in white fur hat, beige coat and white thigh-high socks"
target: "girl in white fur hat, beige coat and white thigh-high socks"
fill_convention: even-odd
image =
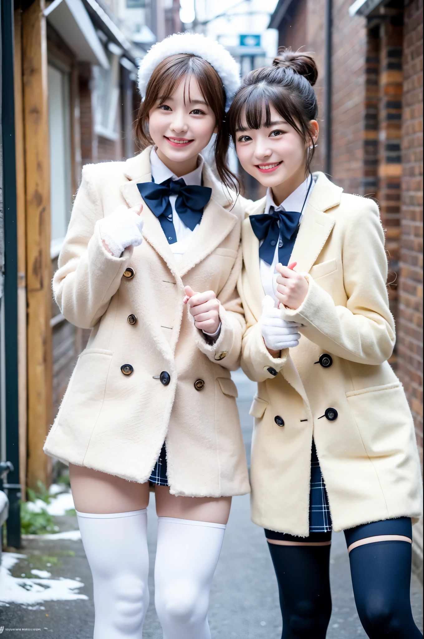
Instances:
[[[126,162],[84,167],[53,288],[92,328],[45,452],[70,465],[93,573],[95,639],[141,639],[155,486],[155,604],[164,639],[209,639],[209,589],[232,495],[248,493],[230,371],[245,321],[236,292],[245,203],[226,164],[238,67],[178,34],[143,59]],[[216,134],[220,181],[200,151]],[[200,291],[200,292],[197,292]]]

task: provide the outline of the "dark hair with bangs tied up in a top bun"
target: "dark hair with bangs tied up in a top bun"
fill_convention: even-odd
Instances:
[[[312,88],[318,70],[312,53],[279,49],[273,66],[248,73],[241,82],[228,112],[229,132],[234,142],[236,131],[246,127],[259,129],[271,123],[270,106],[291,125],[305,142],[312,142],[307,154],[307,170],[314,157],[315,143],[309,122],[318,115],[317,96]]]

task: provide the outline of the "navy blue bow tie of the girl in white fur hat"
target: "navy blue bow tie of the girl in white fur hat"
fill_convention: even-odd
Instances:
[[[211,199],[212,189],[209,187],[187,186],[183,178],[179,180],[141,182],[137,184],[140,196],[144,199],[162,226],[163,233],[170,244],[177,241],[174,222],[172,222],[172,206],[169,196],[176,195],[175,210],[189,229],[194,231],[202,219],[203,209]]]

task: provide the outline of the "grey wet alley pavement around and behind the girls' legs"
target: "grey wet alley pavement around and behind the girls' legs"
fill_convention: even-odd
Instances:
[[[239,412],[246,451],[249,453],[252,418],[248,415],[248,408],[254,386],[239,373],[236,373],[235,381],[239,388]],[[156,548],[154,495],[148,513],[150,605],[143,639],[162,639],[153,590]],[[77,529],[75,516],[58,517],[56,523],[61,530]],[[37,539],[25,539],[24,548],[16,552],[26,555],[26,558],[22,557],[10,567],[10,573],[15,578],[25,578],[27,592],[31,593],[31,590],[41,587],[47,597],[48,584],[52,580],[61,580],[63,583],[56,585],[61,587],[62,596],[86,598],[24,604],[10,602],[0,606],[0,632],[4,626],[4,636],[10,636],[7,633],[13,632],[15,637],[26,638],[46,636],[54,639],[91,639],[94,626],[93,585],[81,541],[52,541],[43,539],[40,535]],[[7,553],[4,557],[9,562],[13,560]],[[349,558],[342,533],[333,534],[330,573],[333,615],[327,638],[366,639],[367,635],[361,627],[354,605]],[[48,579],[47,574],[50,574]],[[0,600],[4,583],[10,585],[11,582],[9,576],[3,579],[2,573]],[[28,597],[31,599],[30,595]],[[36,594],[34,597],[37,598]],[[414,619],[422,631],[423,589],[415,576],[411,583],[411,600]],[[282,621],[275,574],[264,532],[250,521],[248,495],[235,497],[232,502],[222,553],[211,589],[209,625],[212,639],[280,639],[281,636]]]

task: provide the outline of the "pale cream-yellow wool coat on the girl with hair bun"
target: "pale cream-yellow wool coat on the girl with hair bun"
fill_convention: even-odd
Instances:
[[[302,324],[290,355],[286,349],[271,357],[257,323],[265,293],[248,218],[238,285],[247,326],[241,366],[258,382],[250,413],[252,520],[301,537],[308,536],[312,436],[335,530],[421,515],[413,420],[387,362],[395,328],[379,211],[370,199],[342,194],[323,173],[314,179],[291,256],[296,270],[308,273],[309,289],[297,311],[282,311]],[[262,199],[248,212],[263,213],[264,206]],[[333,358],[331,367],[316,363],[323,353]],[[322,417],[330,407],[335,421]]]

